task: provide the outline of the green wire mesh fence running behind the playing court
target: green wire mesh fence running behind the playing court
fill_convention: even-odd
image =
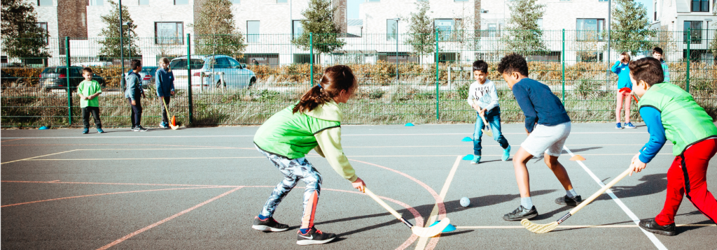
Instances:
[[[293,34],[186,35],[123,39],[122,51],[119,39],[51,38],[49,58],[4,57],[1,126],[82,126],[76,86],[85,66],[103,84],[103,126],[130,126],[122,81],[130,59],[143,62],[142,124],[158,124],[163,104],[154,73],[161,57],[171,60],[175,76],[169,113],[185,125],[262,124],[298,101],[320,81],[323,69],[336,64],[351,66],[360,86],[354,99],[341,104],[345,124],[472,122],[475,112],[466,99],[477,59],[490,66],[488,79],[498,87],[503,121],[522,121],[496,71],[512,52],[526,56],[530,77],[550,86],[571,119],[614,121],[617,74],[609,69],[622,52],[614,48],[625,44],[642,44],[630,49],[633,59],[651,56],[652,46],[662,47],[671,82],[717,116],[715,30],[655,31],[636,41],[611,41],[609,34],[592,30],[540,32],[541,39],[530,46],[499,30],[310,34],[304,44]],[[632,120],[640,121],[637,111]]]

